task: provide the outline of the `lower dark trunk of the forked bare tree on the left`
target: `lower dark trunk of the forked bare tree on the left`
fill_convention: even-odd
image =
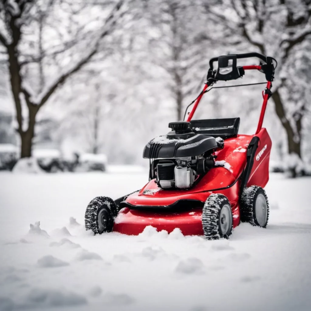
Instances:
[[[29,122],[26,131],[20,131],[21,136],[21,158],[28,158],[31,156],[32,139],[35,134],[35,118],[38,112],[36,106],[29,106]]]

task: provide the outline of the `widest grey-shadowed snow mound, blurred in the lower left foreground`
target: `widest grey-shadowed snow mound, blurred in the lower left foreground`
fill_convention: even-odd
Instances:
[[[21,309],[69,307],[87,304],[84,296],[66,290],[34,288],[26,296]],[[41,309],[42,310],[42,309]]]

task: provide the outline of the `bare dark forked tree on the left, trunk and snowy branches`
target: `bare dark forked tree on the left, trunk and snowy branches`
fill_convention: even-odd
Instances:
[[[90,5],[96,3],[0,0],[0,43],[9,68],[21,157],[31,156],[40,108],[69,77],[94,58],[102,39],[111,34],[124,14],[123,0],[108,15],[109,6],[102,7],[105,1],[99,4],[100,14],[107,16],[104,21],[99,15],[82,23],[80,13],[85,17]],[[93,28],[91,21],[96,25]],[[62,25],[66,26],[61,28]]]

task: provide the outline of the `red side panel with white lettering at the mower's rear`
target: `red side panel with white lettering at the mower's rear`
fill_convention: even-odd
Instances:
[[[262,128],[256,136],[259,137],[259,143],[247,187],[257,185],[264,188],[269,180],[269,159],[272,142],[265,128]]]

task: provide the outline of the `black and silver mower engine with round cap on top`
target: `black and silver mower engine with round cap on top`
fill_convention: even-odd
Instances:
[[[171,132],[152,139],[144,149],[143,157],[151,160],[149,177],[161,188],[190,188],[214,167],[212,153],[223,141],[194,133],[189,122],[169,123],[169,127]]]

